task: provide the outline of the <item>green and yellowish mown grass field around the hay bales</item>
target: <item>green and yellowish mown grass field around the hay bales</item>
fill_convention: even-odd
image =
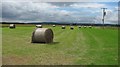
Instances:
[[[31,43],[33,27],[2,28],[3,65],[117,65],[118,30],[52,27],[54,42]]]

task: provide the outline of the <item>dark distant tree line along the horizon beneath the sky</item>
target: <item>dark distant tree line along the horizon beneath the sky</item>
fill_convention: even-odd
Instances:
[[[47,24],[47,25],[81,25],[81,26],[103,26],[103,24],[90,24],[90,23],[66,23],[66,22],[37,22],[37,23],[19,23],[19,22],[2,22],[2,24]],[[120,27],[120,24],[104,24],[104,26],[115,26]]]

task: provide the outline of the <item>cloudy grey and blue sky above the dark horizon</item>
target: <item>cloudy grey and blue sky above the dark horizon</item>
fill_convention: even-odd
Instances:
[[[1,3],[0,3],[1,4]],[[118,2],[2,2],[2,21],[56,21],[102,23],[102,10],[107,8],[105,22],[117,24]],[[1,10],[1,8],[0,8]]]

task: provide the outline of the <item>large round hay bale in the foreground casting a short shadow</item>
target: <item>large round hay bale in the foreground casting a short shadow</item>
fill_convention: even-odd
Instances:
[[[32,34],[32,43],[52,43],[53,31],[49,28],[37,28]]]

